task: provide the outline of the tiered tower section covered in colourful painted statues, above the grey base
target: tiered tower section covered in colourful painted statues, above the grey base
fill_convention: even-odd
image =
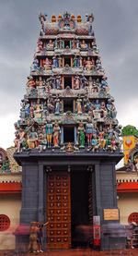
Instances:
[[[67,12],[51,20],[40,14],[40,36],[15,126],[17,152],[52,147],[57,152],[70,140],[73,152],[79,151],[77,140],[80,151],[85,146],[91,153],[121,150],[121,128],[93,20],[92,14],[84,20]]]

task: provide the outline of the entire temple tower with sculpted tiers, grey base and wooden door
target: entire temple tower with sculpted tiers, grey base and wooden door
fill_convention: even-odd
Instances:
[[[121,127],[102,67],[93,14],[40,14],[40,35],[15,124],[22,166],[20,224],[49,221],[46,249],[75,248],[76,227],[96,226],[101,249],[120,246],[115,165]],[[102,232],[101,232],[102,230]],[[19,239],[27,240],[17,237]],[[111,244],[111,245],[110,245]],[[99,245],[99,244],[98,244]]]

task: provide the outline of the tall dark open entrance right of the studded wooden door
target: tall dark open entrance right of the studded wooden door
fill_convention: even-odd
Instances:
[[[80,226],[88,228],[88,191],[90,174],[86,170],[73,170],[71,172],[71,226],[72,226],[72,247],[86,247],[88,244],[85,230]]]

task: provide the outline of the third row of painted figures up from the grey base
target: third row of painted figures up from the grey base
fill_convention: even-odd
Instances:
[[[66,88],[75,91],[85,90],[87,93],[97,94],[97,96],[101,92],[104,92],[104,95],[109,94],[107,77],[93,79],[91,76],[86,78],[83,74],[76,74],[71,79],[66,79],[60,74],[52,74],[49,78],[39,76],[37,79],[29,76],[26,84],[27,96],[42,98],[45,98],[46,94],[50,94],[52,90],[64,90]]]

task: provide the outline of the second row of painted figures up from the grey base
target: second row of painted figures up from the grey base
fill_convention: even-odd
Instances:
[[[67,104],[67,106],[66,106]],[[114,104],[114,99],[91,100],[87,94],[81,98],[71,99],[69,102],[61,99],[58,95],[48,99],[29,100],[27,98],[21,101],[20,119],[24,123],[29,118],[34,118],[39,123],[50,114],[54,116],[64,116],[67,111],[71,111],[78,116],[91,116],[95,121],[99,119],[106,120],[107,118],[115,119],[117,111]]]

